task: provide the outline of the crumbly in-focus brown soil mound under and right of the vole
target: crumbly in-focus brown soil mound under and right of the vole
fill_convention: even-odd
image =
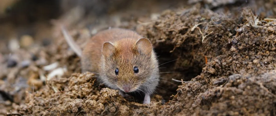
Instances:
[[[196,5],[164,11],[156,21],[137,25],[137,32],[153,42],[161,63],[178,58],[162,71],[181,74],[162,76],[166,81],[183,79],[182,84],[172,87],[181,82],[162,81],[159,85],[177,89],[171,97],[159,88],[163,97],[153,95],[153,102],[143,105],[124,99],[117,90],[94,86],[93,74],[74,73],[50,79],[33,94],[27,92],[27,104],[18,111],[25,115],[276,115],[276,21],[256,20],[249,8],[239,15],[230,19]],[[69,59],[78,61],[75,57]]]

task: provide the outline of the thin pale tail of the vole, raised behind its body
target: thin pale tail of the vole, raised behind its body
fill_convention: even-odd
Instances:
[[[62,34],[69,44],[69,46],[73,49],[73,51],[78,55],[78,57],[81,57],[81,49],[80,47],[76,44],[76,42],[73,40],[73,38],[68,34],[67,30],[65,29],[64,26],[61,26],[62,29]]]

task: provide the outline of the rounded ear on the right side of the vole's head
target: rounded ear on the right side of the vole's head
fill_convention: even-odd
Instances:
[[[150,43],[150,40],[147,38],[141,38],[136,41],[136,46],[139,52],[145,53],[147,55],[151,55],[153,51],[153,47]]]

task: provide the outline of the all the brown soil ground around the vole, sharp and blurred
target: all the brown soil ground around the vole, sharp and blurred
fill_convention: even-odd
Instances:
[[[8,38],[0,40],[0,115],[276,115],[276,1],[150,3],[156,4],[132,2],[128,11],[96,18],[76,8],[52,26],[32,24],[45,33],[17,34],[31,35],[21,48],[10,47],[20,29],[1,23],[12,32],[0,34]],[[58,31],[63,21],[81,47],[109,26],[150,39],[166,72],[152,102],[125,99],[81,72],[80,58]],[[52,39],[43,39],[47,34]]]

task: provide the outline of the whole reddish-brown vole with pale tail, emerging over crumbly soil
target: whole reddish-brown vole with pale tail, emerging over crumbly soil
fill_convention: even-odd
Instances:
[[[62,27],[64,38],[81,59],[82,71],[98,74],[97,81],[128,93],[144,93],[144,104],[159,83],[159,68],[151,42],[137,32],[121,28],[103,30],[90,38],[83,49]]]

